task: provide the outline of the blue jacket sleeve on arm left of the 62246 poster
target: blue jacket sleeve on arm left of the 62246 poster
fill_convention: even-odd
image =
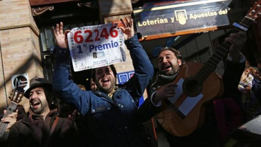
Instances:
[[[53,89],[61,99],[73,104],[82,114],[87,113],[90,92],[81,90],[73,80],[69,80],[69,49],[55,48]]]

